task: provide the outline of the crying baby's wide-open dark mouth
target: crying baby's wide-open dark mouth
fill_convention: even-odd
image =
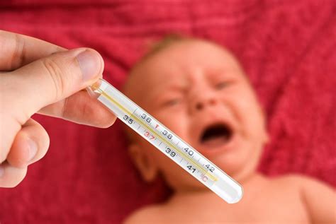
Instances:
[[[228,124],[212,124],[204,129],[200,141],[207,146],[221,146],[230,141],[233,129]]]

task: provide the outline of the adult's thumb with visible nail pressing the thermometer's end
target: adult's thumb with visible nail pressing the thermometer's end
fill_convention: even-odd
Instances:
[[[41,108],[67,98],[94,83],[103,72],[103,59],[93,49],[57,52],[5,73],[9,110],[21,124]],[[9,93],[9,94],[8,94]]]

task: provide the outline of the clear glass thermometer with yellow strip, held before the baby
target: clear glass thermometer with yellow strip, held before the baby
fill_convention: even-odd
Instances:
[[[240,184],[107,81],[99,79],[86,90],[111,110],[118,119],[121,119],[220,198],[229,204],[240,201],[243,194]]]

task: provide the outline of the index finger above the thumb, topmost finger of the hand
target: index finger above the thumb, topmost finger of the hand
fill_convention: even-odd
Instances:
[[[34,37],[0,30],[0,71],[13,71],[66,49]]]

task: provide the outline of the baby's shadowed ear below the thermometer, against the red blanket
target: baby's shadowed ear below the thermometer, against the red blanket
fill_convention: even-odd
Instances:
[[[139,144],[132,143],[128,147],[130,158],[140,171],[140,175],[146,182],[152,182],[158,175],[159,169],[154,158],[145,148],[141,148]]]

